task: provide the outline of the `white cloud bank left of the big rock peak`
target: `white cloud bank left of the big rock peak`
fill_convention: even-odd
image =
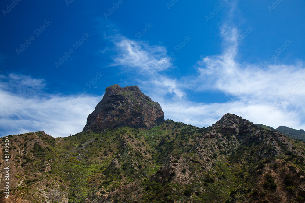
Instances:
[[[17,94],[3,90],[11,89],[12,84],[23,88]],[[102,99],[51,95],[35,88],[36,84],[46,85],[43,80],[24,75],[9,75],[7,81],[0,82],[0,136],[33,131],[45,131],[53,137],[73,135],[82,131],[87,116]]]

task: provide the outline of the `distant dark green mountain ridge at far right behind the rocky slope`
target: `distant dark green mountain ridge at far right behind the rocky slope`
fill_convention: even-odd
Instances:
[[[285,135],[287,135],[287,137],[295,139],[295,140],[303,140],[305,141],[305,131],[304,130],[296,130],[293,128],[288,128],[286,126],[280,126],[276,129],[270,127],[270,126],[266,126],[263,124],[256,124],[258,127],[262,127],[266,130],[273,130],[273,131],[278,131],[281,132]]]

